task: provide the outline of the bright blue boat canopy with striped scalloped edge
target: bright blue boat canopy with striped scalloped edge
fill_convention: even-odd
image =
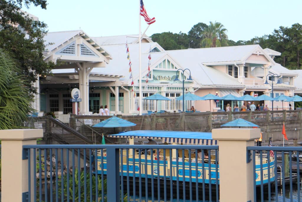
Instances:
[[[161,139],[162,142],[183,143],[183,144],[208,144],[217,145],[217,140],[212,139],[212,133],[209,132],[191,132],[191,131],[128,131],[119,134],[108,135],[108,137],[119,138],[143,138],[143,139]]]

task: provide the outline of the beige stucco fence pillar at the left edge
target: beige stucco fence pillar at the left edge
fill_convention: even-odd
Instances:
[[[42,129],[0,130],[1,139],[1,200],[27,201],[28,197],[28,159],[23,160],[26,151],[23,145],[37,144],[37,138],[43,137]],[[23,155],[24,154],[24,155]],[[31,152],[31,168],[33,153]],[[31,174],[31,190],[34,190],[36,174]],[[31,201],[34,201],[31,191]]]

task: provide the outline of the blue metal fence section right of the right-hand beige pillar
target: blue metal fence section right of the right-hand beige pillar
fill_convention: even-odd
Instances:
[[[258,157],[260,161],[259,165],[253,161],[255,201],[301,200],[299,152],[302,152],[302,147],[247,147],[247,163],[250,162],[251,157],[253,159]],[[288,158],[285,158],[287,155]],[[270,163],[273,166],[267,166],[267,169],[263,169],[263,164],[268,163],[269,161],[266,161],[268,159],[272,160]],[[293,172],[293,167],[296,168],[296,173]],[[289,175],[285,176],[286,173]],[[270,177],[268,177],[267,182],[263,180],[263,176],[266,174],[268,176],[274,174],[274,180],[271,181]],[[259,177],[261,184],[256,187],[256,179]],[[293,187],[297,189],[296,194],[293,194]]]

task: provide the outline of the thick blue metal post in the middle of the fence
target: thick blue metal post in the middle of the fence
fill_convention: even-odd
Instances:
[[[119,149],[107,148],[107,201],[120,201],[120,159]],[[121,177],[123,183],[123,177]]]

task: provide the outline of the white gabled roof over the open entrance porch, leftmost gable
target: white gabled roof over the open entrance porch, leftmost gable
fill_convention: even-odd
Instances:
[[[82,30],[73,30],[73,31],[57,31],[57,32],[48,32],[44,36],[44,44],[47,48],[45,53],[53,51],[58,46],[62,45],[66,41],[74,38],[75,36],[81,36],[85,41],[90,43],[95,49],[97,49],[102,55],[106,58],[112,59],[111,55],[95,41],[93,41],[84,31]]]

